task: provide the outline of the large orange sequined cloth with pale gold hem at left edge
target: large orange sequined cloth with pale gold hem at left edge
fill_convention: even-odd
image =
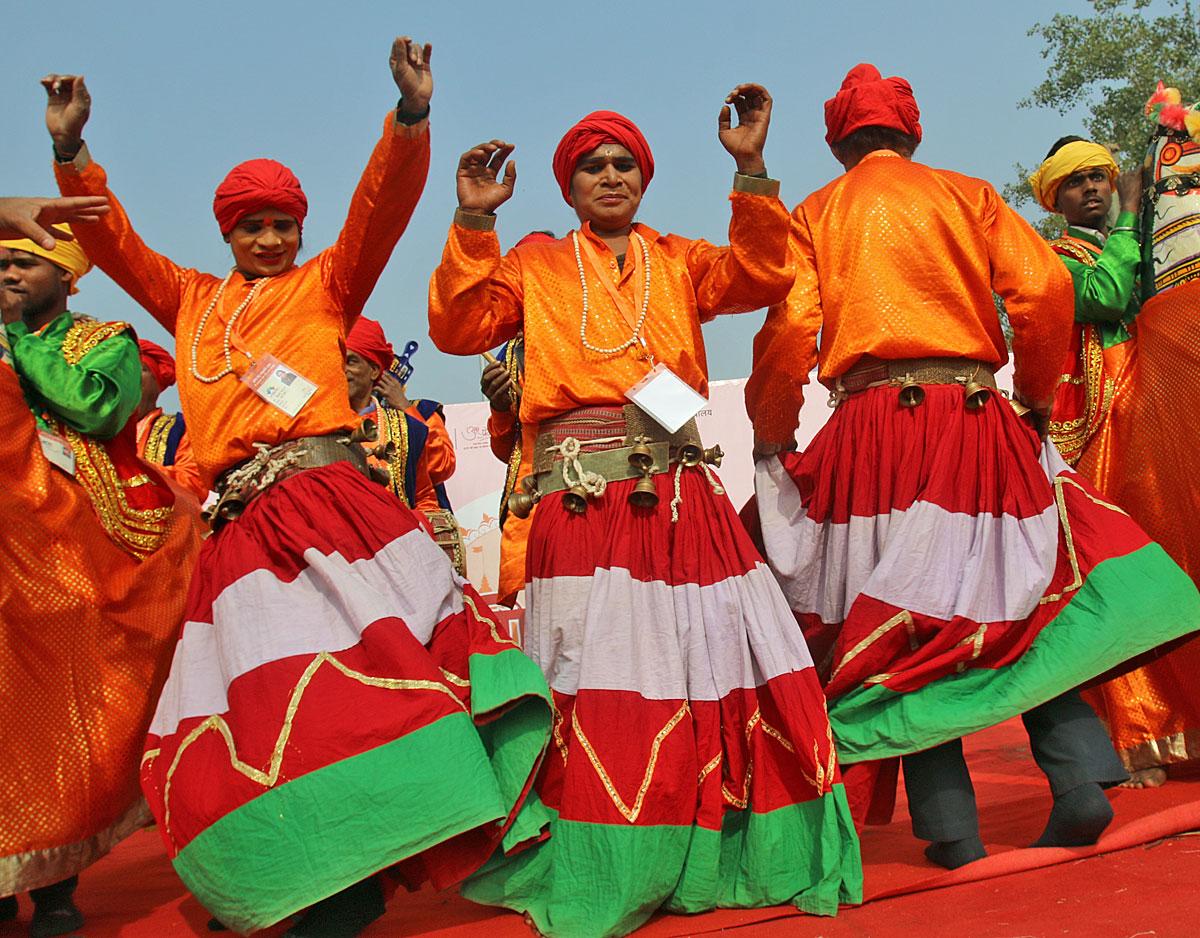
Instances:
[[[0,896],[58,882],[132,832],[138,763],[200,546],[178,499],[136,560],[43,457],[0,365]]]

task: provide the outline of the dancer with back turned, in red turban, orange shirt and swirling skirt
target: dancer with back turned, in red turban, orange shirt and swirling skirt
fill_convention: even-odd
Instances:
[[[1126,772],[1070,689],[1200,626],[1200,596],[1042,439],[1073,305],[1055,254],[986,182],[913,161],[902,78],[857,66],[826,124],[846,173],[792,216],[796,284],[755,339],[746,403],[767,555],[847,784],[875,780],[866,813],[888,814],[895,776],[870,760],[904,757],[926,855],[976,860],[960,736],[1021,714],[1054,795],[1038,846],[1092,843]],[[1026,420],[996,391],[994,291]],[[836,410],[791,452],[818,361]]]

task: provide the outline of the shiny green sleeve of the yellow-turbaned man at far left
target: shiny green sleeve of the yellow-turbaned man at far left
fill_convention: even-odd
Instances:
[[[78,365],[67,365],[59,343],[30,335],[24,323],[7,329],[31,403],[89,437],[107,440],[121,432],[142,401],[142,360],[132,332],[107,338]]]

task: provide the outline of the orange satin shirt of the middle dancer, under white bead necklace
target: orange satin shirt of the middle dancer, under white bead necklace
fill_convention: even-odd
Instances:
[[[701,323],[776,302],[792,282],[787,210],[774,196],[734,191],[730,246],[660,235],[644,224],[650,257],[647,348],[696,391],[708,396],[708,362]],[[584,223],[617,289],[641,309],[644,270],[630,240],[624,270],[608,246]],[[584,261],[586,263],[586,261]],[[596,276],[588,271],[588,341],[613,348],[632,329]],[[442,264],[430,281],[430,337],[443,351],[478,355],[524,329],[526,368],[521,422],[526,452],[538,425],[587,405],[623,405],[625,391],[646,377],[650,363],[641,347],[614,355],[587,350],[580,337],[583,294],[570,236],[522,245],[500,255],[493,232],[454,224]]]

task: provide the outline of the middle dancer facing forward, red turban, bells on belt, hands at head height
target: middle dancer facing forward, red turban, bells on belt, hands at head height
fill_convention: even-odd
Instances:
[[[500,175],[512,146],[480,144],[460,161],[430,285],[443,350],[524,335],[532,475],[514,506],[538,503],[526,650],[554,696],[536,786],[551,836],[463,891],[526,910],[546,934],[622,934],[656,909],[833,914],[860,897],[811,659],[688,413],[708,390],[701,323],[781,300],[792,282],[762,157],[770,97],[739,85],[727,103],[739,116],[732,126],[726,106],[719,120],[738,169],[728,247],[635,221],[650,148],[626,118],[595,112],[553,161],[580,229],[502,255],[493,212],[512,194],[514,164]],[[674,431],[630,403],[643,379],[689,402],[647,402]]]

